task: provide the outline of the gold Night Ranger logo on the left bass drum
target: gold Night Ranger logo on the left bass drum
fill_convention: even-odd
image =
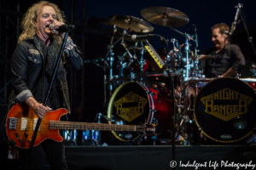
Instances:
[[[144,107],[147,103],[147,99],[130,92],[114,102],[113,105],[116,107],[116,114],[118,116],[127,122],[131,122],[144,113]]]

